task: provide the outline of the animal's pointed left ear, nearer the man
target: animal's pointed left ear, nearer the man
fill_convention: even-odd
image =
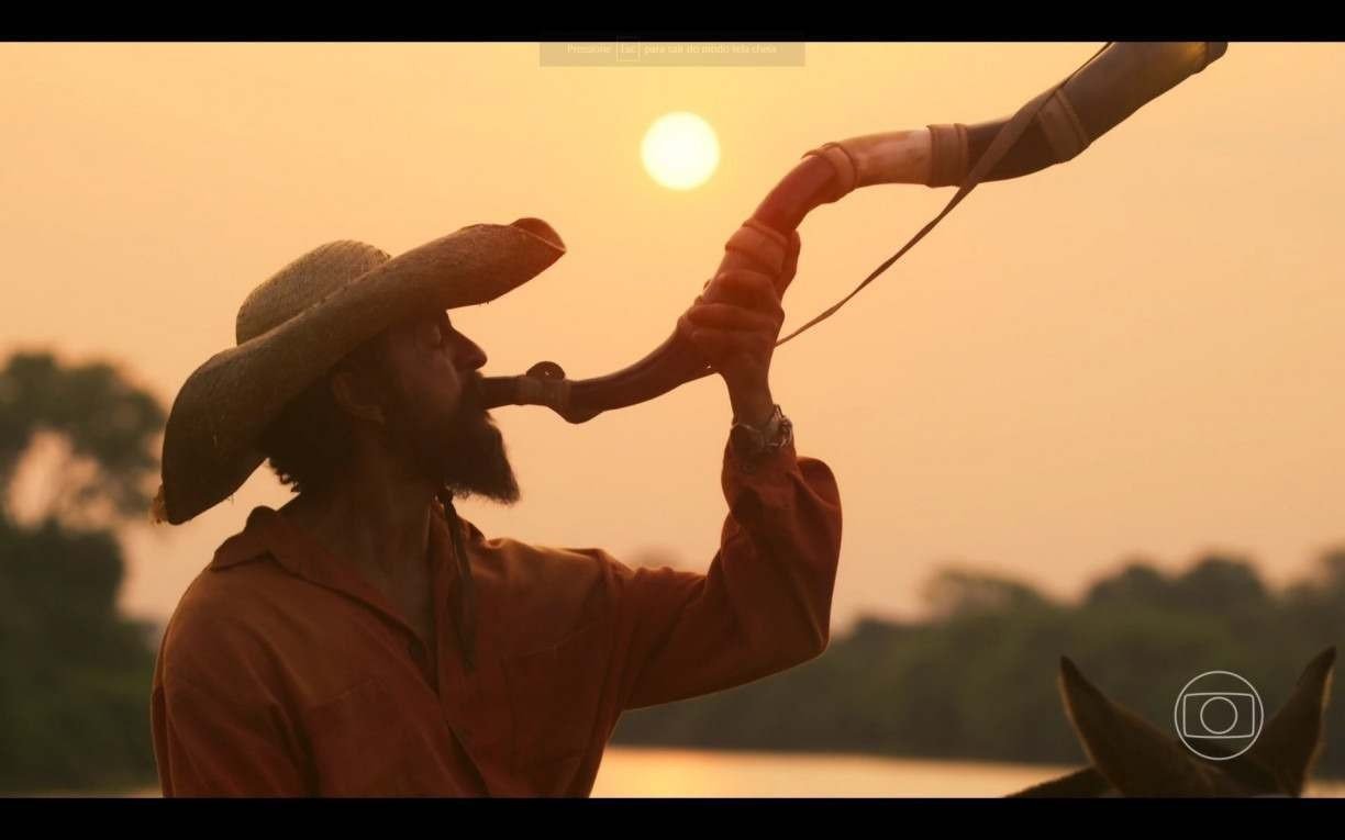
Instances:
[[[1182,747],[1130,710],[1108,700],[1068,657],[1060,694],[1093,767],[1122,796],[1217,796],[1220,785]]]

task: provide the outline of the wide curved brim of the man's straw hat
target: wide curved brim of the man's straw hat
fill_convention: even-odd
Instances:
[[[265,461],[262,430],[362,343],[418,312],[484,304],[565,254],[541,219],[472,224],[394,257],[187,378],[164,431],[153,517],[182,524],[231,496]]]

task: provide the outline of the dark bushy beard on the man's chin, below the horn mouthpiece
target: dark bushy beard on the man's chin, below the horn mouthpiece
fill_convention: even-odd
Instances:
[[[405,394],[398,394],[391,414],[390,431],[406,448],[412,466],[425,470],[455,499],[518,501],[518,480],[504,452],[504,438],[488,422],[476,379],[464,382],[463,401],[447,426],[426,421],[422,414],[417,417]]]

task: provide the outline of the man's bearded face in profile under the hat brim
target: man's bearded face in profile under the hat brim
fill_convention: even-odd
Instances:
[[[382,351],[394,450],[455,496],[518,501],[504,438],[482,407],[486,352],[453,329],[448,313],[393,327]]]

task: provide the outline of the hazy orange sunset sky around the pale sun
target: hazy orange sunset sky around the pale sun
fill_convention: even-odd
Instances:
[[[538,44],[3,44],[0,352],[112,358],[165,403],[300,253],[401,251],[541,216],[569,254],[455,321],[487,374],[609,372],[672,328],[807,149],[1011,113],[1099,44],[807,44],[798,67],[543,67]],[[911,614],[959,560],[1069,595],[1145,554],[1245,552],[1272,582],[1345,542],[1345,44],[1232,44],[1073,161],[985,185],[772,387],[845,507],[834,626]],[[690,110],[721,165],[655,184]],[[785,329],[948,199],[881,187],[802,227]],[[570,426],[495,411],[523,485],[487,535],[703,569],[725,503],[717,378]],[[165,617],[285,492],[258,472],[187,526],[126,534],[125,606]]]

